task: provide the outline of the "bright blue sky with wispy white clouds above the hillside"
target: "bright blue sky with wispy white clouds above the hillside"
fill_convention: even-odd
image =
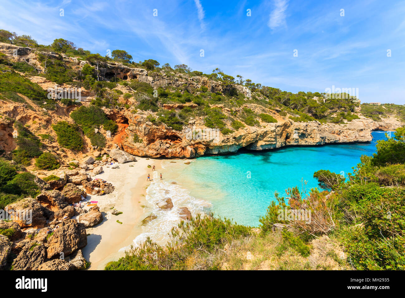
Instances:
[[[64,38],[103,56],[124,49],[136,62],[184,63],[204,73],[218,67],[291,92],[358,88],[362,102],[405,104],[405,1],[2,0],[0,6],[0,28],[45,45]]]

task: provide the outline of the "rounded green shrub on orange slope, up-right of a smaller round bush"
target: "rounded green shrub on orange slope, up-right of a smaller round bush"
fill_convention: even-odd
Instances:
[[[57,141],[60,146],[77,151],[83,149],[83,139],[81,138],[77,125],[60,121],[57,124],[53,124],[52,128],[58,136]]]

